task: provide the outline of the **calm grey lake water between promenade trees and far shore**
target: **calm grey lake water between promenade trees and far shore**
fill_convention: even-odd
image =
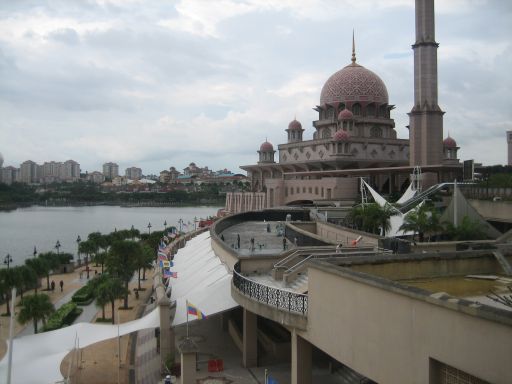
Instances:
[[[217,213],[219,207],[137,207],[117,206],[88,207],[39,207],[20,208],[10,212],[0,212],[0,268],[10,254],[12,265],[22,265],[32,257],[34,246],[38,253],[55,251],[59,240],[61,252],[76,255],[76,239],[80,235],[87,239],[91,232],[107,234],[115,229],[130,229],[133,225],[142,232],[164,229],[167,226],[179,228],[178,221],[189,223],[194,228],[194,218],[206,218]],[[183,227],[183,230],[186,229]]]

